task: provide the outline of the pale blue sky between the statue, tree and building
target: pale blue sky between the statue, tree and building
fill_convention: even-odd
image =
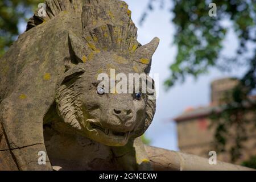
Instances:
[[[43,1],[42,1],[43,2]],[[212,69],[208,75],[201,76],[198,80],[189,77],[184,84],[178,84],[169,92],[164,91],[163,82],[169,76],[168,67],[174,62],[176,47],[172,46],[174,38],[174,24],[171,23],[170,1],[166,1],[163,10],[156,8],[139,26],[139,19],[147,7],[148,0],[126,0],[132,11],[132,18],[138,27],[138,40],[142,44],[150,42],[155,36],[160,39],[160,44],[152,61],[151,73],[159,73],[159,97],[156,105],[156,114],[152,125],[146,132],[152,141],[152,146],[162,147],[169,150],[179,150],[177,147],[176,124],[172,118],[181,114],[187,107],[199,107],[208,105],[210,102],[210,82],[222,77],[242,76],[242,71],[234,73],[221,73]],[[158,6],[157,6],[158,7]],[[229,22],[224,22],[229,26]],[[20,32],[26,29],[26,24],[20,24]],[[224,42],[225,55],[233,55],[237,47],[237,39],[232,31]]]

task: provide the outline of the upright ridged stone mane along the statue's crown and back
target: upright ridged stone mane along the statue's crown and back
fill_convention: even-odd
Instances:
[[[137,28],[131,20],[131,11],[123,1],[48,0],[46,5],[47,16],[40,17],[36,11],[27,24],[27,31],[60,13],[73,11],[81,13],[82,32],[87,42],[98,40],[98,46],[104,49],[135,51],[141,46],[137,42]],[[97,51],[94,47],[89,49]]]

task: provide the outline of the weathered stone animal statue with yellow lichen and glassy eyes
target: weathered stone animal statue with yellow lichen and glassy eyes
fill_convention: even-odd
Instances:
[[[151,169],[139,137],[155,100],[99,95],[97,76],[148,73],[159,40],[137,42],[123,1],[46,5],[0,60],[0,170]]]

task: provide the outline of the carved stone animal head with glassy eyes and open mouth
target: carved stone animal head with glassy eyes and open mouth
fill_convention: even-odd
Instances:
[[[98,75],[105,73],[110,78],[111,69],[115,75],[121,73],[127,79],[132,73],[147,73],[157,46],[158,39],[154,39],[132,53],[100,51],[87,64],[69,68],[56,89],[57,111],[63,121],[87,138],[108,146],[124,146],[130,138],[142,135],[155,113],[155,100],[148,99],[148,94],[155,93],[135,92],[134,89],[133,93],[128,92],[129,88],[134,88],[135,80],[127,80],[126,88],[119,85],[127,89],[127,93],[116,93],[111,90],[111,81],[109,88],[101,86]],[[121,84],[117,80],[122,81],[122,78],[115,78],[114,89]],[[154,81],[147,78],[146,82]]]

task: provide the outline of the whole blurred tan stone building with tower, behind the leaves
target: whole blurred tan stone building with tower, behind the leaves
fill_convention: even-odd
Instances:
[[[212,124],[210,115],[213,110],[232,102],[232,89],[238,84],[236,78],[224,78],[213,81],[211,84],[211,103],[209,106],[196,109],[189,108],[174,120],[177,123],[177,133],[180,151],[209,157],[209,151],[215,150],[214,134],[216,127],[209,127]],[[255,97],[253,97],[255,99]],[[246,114],[246,119],[255,119],[256,112],[251,111]],[[256,122],[254,122],[256,123]],[[255,125],[255,124],[254,124]],[[244,144],[242,156],[237,160],[237,164],[256,155],[256,127],[252,124],[246,125],[248,139]],[[230,131],[234,129],[229,129]],[[231,132],[232,133],[232,132]],[[234,137],[230,135],[226,143],[227,148],[232,146]],[[217,159],[224,162],[231,162],[229,152],[217,153]]]

